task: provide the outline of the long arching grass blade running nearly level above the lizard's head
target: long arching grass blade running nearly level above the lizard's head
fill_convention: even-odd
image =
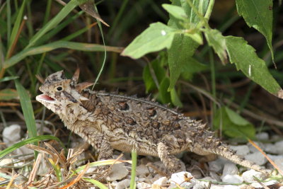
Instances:
[[[89,44],[83,42],[57,41],[57,42],[52,42],[48,45],[31,47],[29,49],[18,52],[16,55],[6,60],[6,62],[4,62],[3,64],[3,67],[7,69],[8,67],[11,67],[14,64],[20,62],[22,59],[24,59],[27,56],[38,55],[43,52],[49,52],[51,50],[55,50],[58,48],[68,48],[72,50],[91,51],[91,52],[104,52],[106,49],[106,51],[110,51],[110,52],[122,52],[121,47],[109,47],[109,46]]]

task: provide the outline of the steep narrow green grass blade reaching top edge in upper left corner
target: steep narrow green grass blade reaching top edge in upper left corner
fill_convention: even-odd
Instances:
[[[11,37],[8,38],[8,51],[7,51],[6,57],[8,57],[8,55],[10,54],[13,41],[16,39],[18,29],[20,28],[21,21],[22,21],[22,18],[23,18],[23,11],[25,10],[25,4],[26,4],[26,0],[23,1],[23,4],[21,5],[20,11],[18,11],[18,16],[16,18],[15,24],[13,25]]]

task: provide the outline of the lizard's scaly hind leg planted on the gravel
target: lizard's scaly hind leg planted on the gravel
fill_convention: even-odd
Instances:
[[[170,153],[165,143],[159,142],[157,145],[158,156],[166,167],[166,175],[171,176],[172,173],[183,171],[182,163],[175,155]]]

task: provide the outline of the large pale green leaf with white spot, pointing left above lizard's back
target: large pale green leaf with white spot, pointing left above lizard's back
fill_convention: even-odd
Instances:
[[[149,28],[144,30],[135,38],[122,52],[122,56],[138,59],[149,52],[156,52],[171,47],[175,29],[163,23],[151,23]]]

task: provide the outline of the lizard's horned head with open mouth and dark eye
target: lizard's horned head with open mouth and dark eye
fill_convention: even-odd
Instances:
[[[81,96],[81,91],[92,83],[77,84],[78,79],[79,69],[76,70],[72,79],[67,79],[64,71],[57,71],[47,76],[44,84],[39,88],[42,94],[36,96],[36,100],[57,114],[63,113],[64,109],[71,105],[88,101],[88,98]]]

